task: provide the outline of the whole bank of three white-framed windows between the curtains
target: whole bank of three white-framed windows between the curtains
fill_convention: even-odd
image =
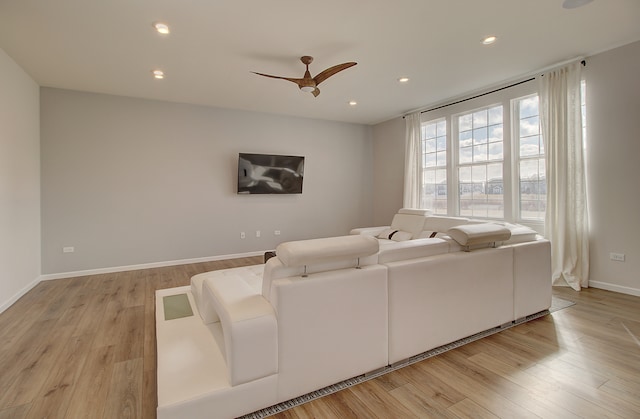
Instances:
[[[436,214],[522,222],[546,209],[536,83],[422,114],[422,204]]]

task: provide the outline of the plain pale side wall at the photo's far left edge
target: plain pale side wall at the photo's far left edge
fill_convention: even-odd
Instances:
[[[38,85],[0,49],[0,312],[40,276]]]

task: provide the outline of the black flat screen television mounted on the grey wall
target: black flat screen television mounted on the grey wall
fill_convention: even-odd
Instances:
[[[300,194],[303,177],[303,156],[238,155],[239,194]]]

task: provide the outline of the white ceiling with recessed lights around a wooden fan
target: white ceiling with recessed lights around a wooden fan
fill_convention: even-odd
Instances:
[[[0,0],[0,47],[41,86],[362,124],[637,40],[640,0]],[[358,65],[317,98],[251,74],[302,77],[302,55]]]

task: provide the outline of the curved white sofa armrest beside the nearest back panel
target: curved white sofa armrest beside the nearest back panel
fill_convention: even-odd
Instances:
[[[229,383],[277,373],[278,325],[271,303],[237,277],[209,278],[203,288],[222,325]]]

